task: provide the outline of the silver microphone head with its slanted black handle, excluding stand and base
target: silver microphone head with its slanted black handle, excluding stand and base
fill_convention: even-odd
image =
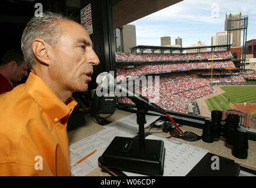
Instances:
[[[112,93],[115,93],[116,96],[126,96],[130,98],[136,105],[143,106],[145,110],[152,110],[154,112],[161,113],[162,115],[166,115],[167,112],[162,109],[160,106],[155,103],[149,102],[148,98],[142,96],[140,93],[135,92],[133,89],[127,89],[128,86],[122,83],[115,83],[114,76],[108,72],[100,73],[96,78],[96,83],[98,85],[98,89],[96,90],[96,94],[98,96],[102,95],[101,90],[99,88],[103,88]],[[138,106],[137,106],[138,108]]]

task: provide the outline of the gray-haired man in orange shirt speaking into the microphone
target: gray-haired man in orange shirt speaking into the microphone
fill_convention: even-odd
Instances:
[[[98,56],[81,25],[51,12],[28,22],[21,46],[31,73],[0,95],[0,175],[69,176],[71,95],[88,90]]]

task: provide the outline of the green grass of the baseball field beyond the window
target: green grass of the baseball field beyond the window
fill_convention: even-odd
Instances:
[[[230,103],[256,103],[256,86],[223,86],[221,89],[225,90],[225,93],[205,100],[210,111],[230,109]],[[252,115],[256,116],[256,112]]]

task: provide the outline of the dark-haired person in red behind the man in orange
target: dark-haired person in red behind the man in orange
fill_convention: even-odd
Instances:
[[[17,49],[5,52],[0,62],[0,94],[12,90],[24,76],[28,76],[28,66],[22,52]]]

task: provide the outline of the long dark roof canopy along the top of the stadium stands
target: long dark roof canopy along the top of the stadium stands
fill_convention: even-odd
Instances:
[[[131,49],[131,53],[133,53],[134,51],[137,51],[137,49],[139,49],[141,51],[141,53],[143,53],[143,51],[145,49],[150,49],[152,53],[154,53],[154,51],[180,51],[181,53],[187,49],[202,49],[202,48],[211,48],[211,51],[214,51],[215,48],[230,48],[231,45],[214,45],[214,46],[195,46],[195,47],[187,47],[187,48],[183,48],[183,47],[171,47],[171,46],[144,46],[144,45],[139,45],[139,46],[134,46]]]

